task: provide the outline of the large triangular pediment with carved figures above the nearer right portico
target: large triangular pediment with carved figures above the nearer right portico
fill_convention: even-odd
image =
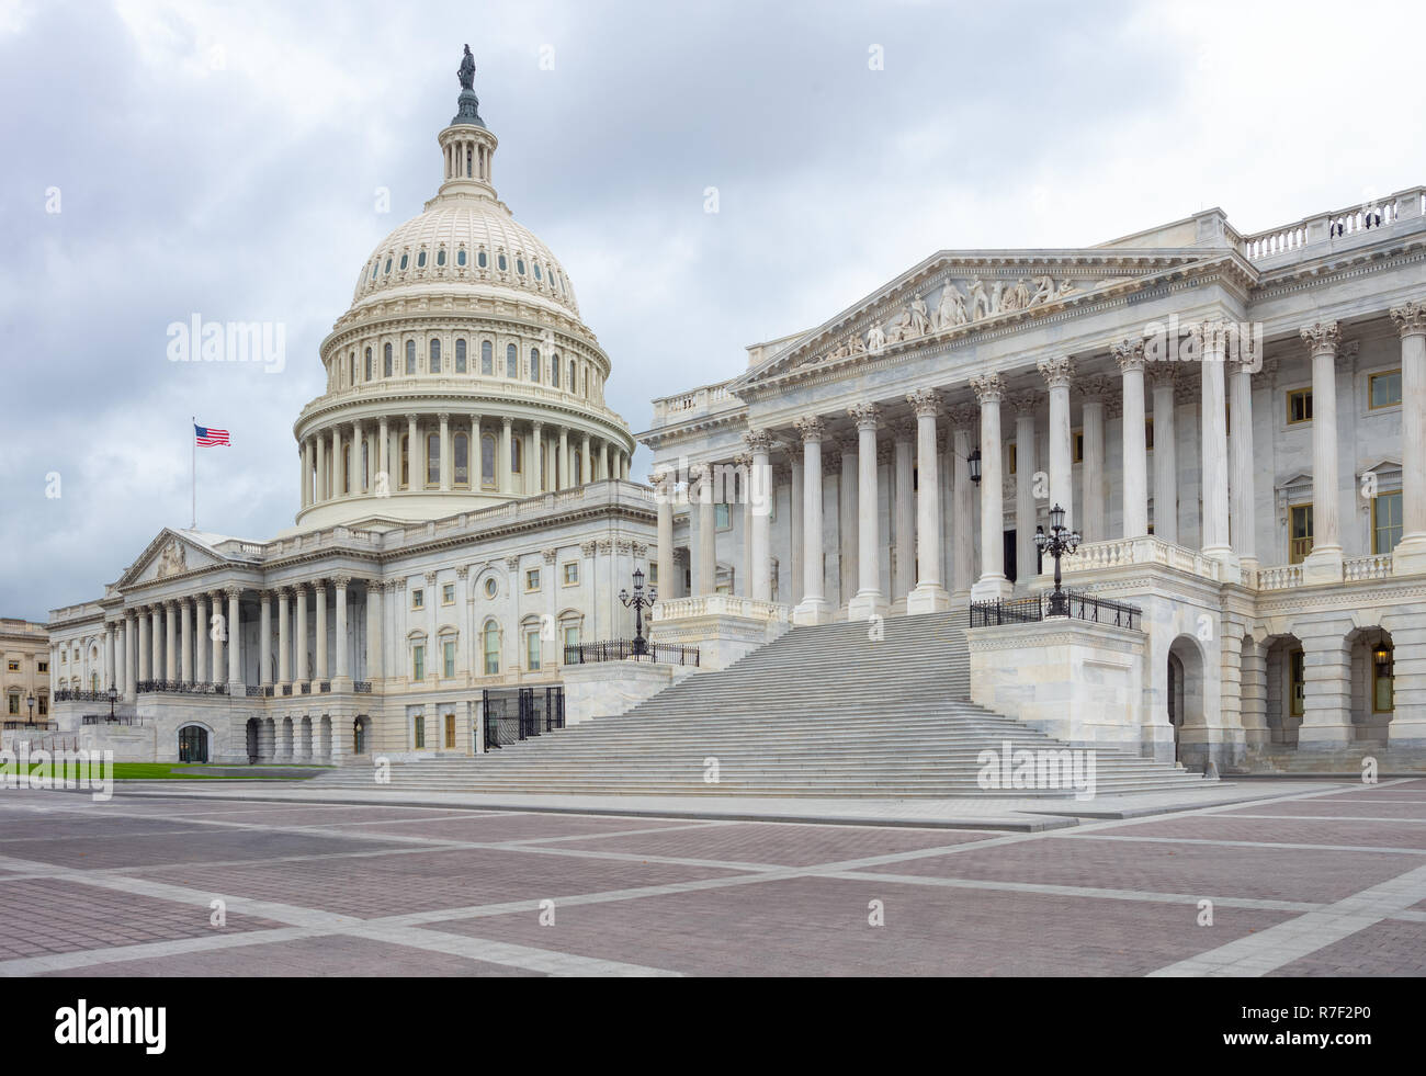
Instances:
[[[864,362],[1042,318],[1231,257],[1226,249],[1202,248],[943,251],[793,339],[729,390],[739,393],[804,366]]]

